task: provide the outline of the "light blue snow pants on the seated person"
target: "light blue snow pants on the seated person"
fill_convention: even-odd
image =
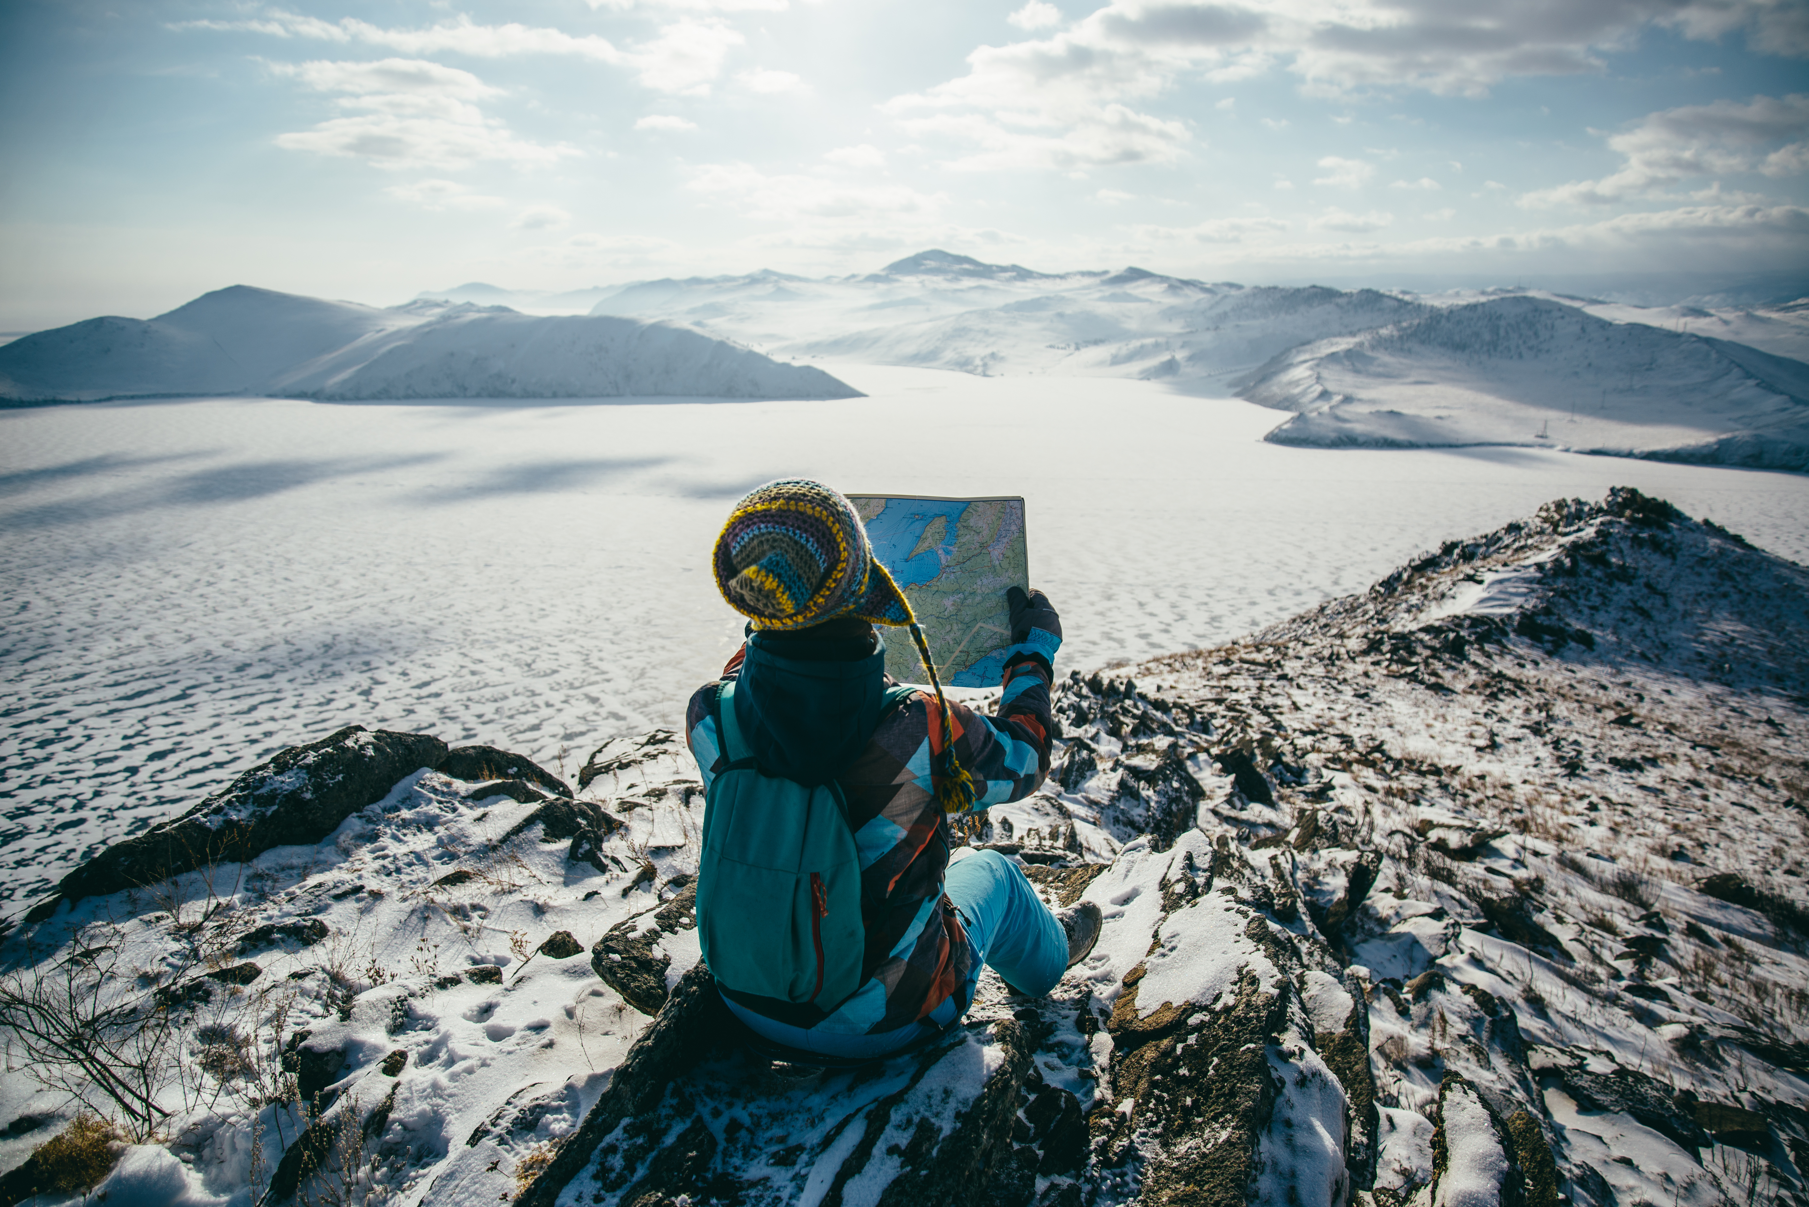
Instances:
[[[879,1035],[836,1035],[774,1023],[727,997],[722,1001],[734,1017],[747,1023],[749,1030],[772,1043],[800,1052],[865,1059],[908,1048],[950,1026],[957,1017],[955,999],[973,1001],[973,983],[980,978],[982,963],[991,965],[1013,988],[1031,997],[1042,997],[1055,988],[1067,970],[1067,934],[1017,864],[999,851],[961,847],[950,856],[942,891],[961,911],[975,961],[968,985],[932,1010],[923,1023]]]

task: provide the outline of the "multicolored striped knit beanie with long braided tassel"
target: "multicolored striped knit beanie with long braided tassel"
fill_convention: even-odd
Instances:
[[[973,804],[973,777],[955,759],[955,732],[930,643],[904,593],[874,560],[874,546],[852,502],[801,477],[756,486],[729,511],[711,569],[722,598],[753,620],[754,629],[807,629],[838,616],[910,627],[942,719],[935,797],[944,813]]]

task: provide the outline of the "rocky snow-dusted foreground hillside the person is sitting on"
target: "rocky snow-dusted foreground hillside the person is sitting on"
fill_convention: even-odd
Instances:
[[[154,1138],[109,1202],[279,1203],[313,1164],[452,1207],[1795,1203],[1805,593],[1617,490],[1064,679],[1051,781],[971,840],[1098,902],[1098,949],[867,1070],[736,1046],[668,730],[575,786],[342,730],[72,873],[0,963],[137,1021]],[[0,1162],[65,1102],[0,1082]]]

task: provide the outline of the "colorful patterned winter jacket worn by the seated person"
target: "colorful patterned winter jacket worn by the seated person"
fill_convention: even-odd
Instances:
[[[724,667],[722,679],[691,696],[686,739],[709,788],[727,766],[716,728],[716,694],[724,679],[738,679],[736,719],[760,770],[807,784],[832,777],[841,786],[861,860],[865,979],[852,997],[827,1010],[816,1003],[724,992],[792,1026],[890,1032],[928,1015],[950,994],[964,996],[973,970],[961,916],[942,896],[950,829],[930,773],[942,748],[935,694],[915,692],[881,716],[879,699],[892,685],[883,669],[883,647],[848,661],[800,661],[780,652],[801,649],[774,634],[753,634]],[[975,809],[1020,800],[1049,773],[1049,743],[1056,737],[1049,683],[1047,660],[1017,654],[1004,670],[997,716],[986,717],[950,701],[955,755],[979,791]],[[957,1005],[966,1010],[970,1003],[961,999]]]

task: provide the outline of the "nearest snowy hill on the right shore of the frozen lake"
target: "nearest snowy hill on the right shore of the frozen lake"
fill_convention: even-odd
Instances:
[[[1268,435],[1286,444],[1534,444],[1809,470],[1809,365],[1550,298],[1306,343],[1241,396],[1299,412]]]

